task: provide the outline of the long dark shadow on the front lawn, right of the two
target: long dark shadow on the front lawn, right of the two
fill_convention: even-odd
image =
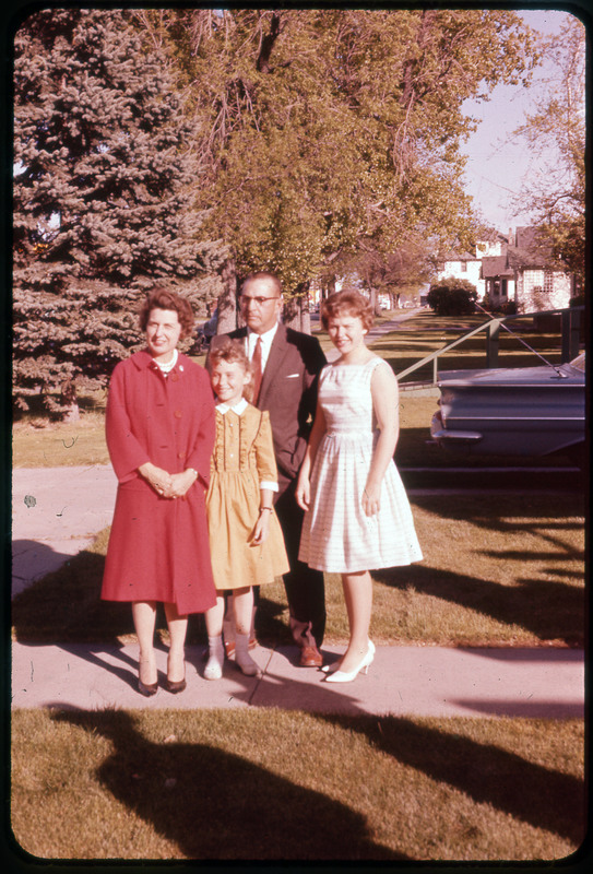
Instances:
[[[559,835],[576,847],[584,840],[585,786],[577,777],[400,717],[325,714],[323,719],[365,734],[377,749],[448,783],[479,804],[490,804],[515,819]]]

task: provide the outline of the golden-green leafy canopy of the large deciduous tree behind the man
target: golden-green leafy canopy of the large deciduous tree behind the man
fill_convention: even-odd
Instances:
[[[143,13],[190,96],[206,227],[237,269],[295,291],[337,252],[474,229],[461,109],[529,81],[532,36],[502,10]],[[365,247],[363,247],[365,248]]]

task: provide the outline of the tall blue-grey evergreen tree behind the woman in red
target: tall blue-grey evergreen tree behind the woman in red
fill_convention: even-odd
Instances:
[[[164,59],[121,10],[44,10],[15,37],[14,387],[20,409],[75,409],[138,346],[159,279],[195,296],[189,125]]]

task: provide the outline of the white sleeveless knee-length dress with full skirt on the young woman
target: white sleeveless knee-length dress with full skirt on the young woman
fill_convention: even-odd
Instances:
[[[423,557],[410,501],[393,460],[381,484],[380,510],[366,516],[361,497],[379,432],[370,380],[378,356],[366,364],[330,364],[319,379],[327,432],[311,472],[299,559],[318,570],[354,574],[419,562]]]

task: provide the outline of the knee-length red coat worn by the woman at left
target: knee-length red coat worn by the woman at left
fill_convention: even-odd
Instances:
[[[185,355],[167,377],[145,351],[115,368],[106,436],[119,485],[103,599],[175,603],[181,614],[215,604],[205,515],[214,423],[206,371]],[[145,461],[199,479],[183,498],[163,498],[138,473]]]

